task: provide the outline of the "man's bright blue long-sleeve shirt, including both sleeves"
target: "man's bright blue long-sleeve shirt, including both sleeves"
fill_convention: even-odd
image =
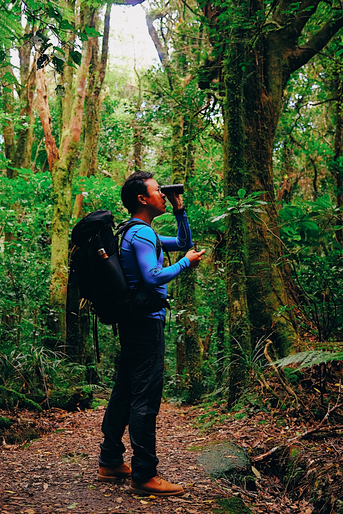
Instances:
[[[167,251],[187,251],[192,243],[191,230],[187,215],[175,214],[177,222],[176,237],[158,235]],[[141,222],[141,219],[131,218],[130,221]],[[146,287],[155,290],[161,298],[167,298],[167,283],[179,273],[189,268],[190,261],[183,257],[172,266],[163,268],[164,253],[161,249],[159,258],[156,254],[156,235],[149,224],[135,225],[125,232],[121,242],[121,263],[130,288],[134,288],[143,279]],[[166,309],[147,314],[147,318],[163,320]]]

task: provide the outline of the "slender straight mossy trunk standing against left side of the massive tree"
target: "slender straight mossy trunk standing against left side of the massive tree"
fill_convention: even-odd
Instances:
[[[238,55],[242,45],[228,49],[224,101],[224,195],[236,196],[246,182],[246,137],[243,110],[244,74]],[[245,220],[240,214],[226,217],[226,271],[230,366],[228,404],[232,405],[245,383],[244,355],[251,351],[250,320],[246,294],[247,243]]]

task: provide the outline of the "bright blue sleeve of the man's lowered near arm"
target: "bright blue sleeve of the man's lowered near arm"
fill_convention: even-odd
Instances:
[[[145,285],[150,288],[167,284],[179,273],[190,267],[190,261],[187,257],[183,257],[167,268],[157,266],[156,235],[151,227],[142,226],[139,228],[132,237],[131,244],[137,256],[142,279]]]

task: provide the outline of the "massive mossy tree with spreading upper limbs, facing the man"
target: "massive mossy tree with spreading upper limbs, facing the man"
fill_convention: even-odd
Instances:
[[[291,279],[276,228],[273,144],[288,79],[343,26],[342,10],[336,4],[304,0],[202,6],[213,51],[201,71],[200,86],[216,84],[218,89],[218,80],[224,84],[224,183],[230,195],[237,195],[240,188],[261,191],[267,202],[261,222],[232,216],[227,227],[229,295],[232,283],[236,291],[229,307],[230,325],[233,321],[236,327],[231,334],[241,333],[241,341],[247,340],[244,351],[250,345],[248,333],[256,340],[274,330],[281,354],[298,343],[295,324],[275,315],[280,307],[290,306]],[[232,263],[237,252],[238,262]],[[239,315],[238,322],[234,313],[240,311],[244,316]],[[231,400],[238,391],[231,388]]]

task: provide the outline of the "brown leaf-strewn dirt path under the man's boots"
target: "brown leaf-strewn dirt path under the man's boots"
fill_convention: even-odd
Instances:
[[[0,469],[0,512],[46,514],[57,512],[145,512],[200,514],[215,508],[215,498],[222,492],[201,467],[196,454],[188,451],[204,444],[207,437],[187,423],[182,409],[163,403],[157,418],[157,455],[159,473],[180,483],[182,498],[135,498],[129,494],[129,480],[102,484],[96,480],[103,409],[95,412],[62,414],[57,431],[26,448],[3,450]],[[131,461],[129,435],[124,434]]]

